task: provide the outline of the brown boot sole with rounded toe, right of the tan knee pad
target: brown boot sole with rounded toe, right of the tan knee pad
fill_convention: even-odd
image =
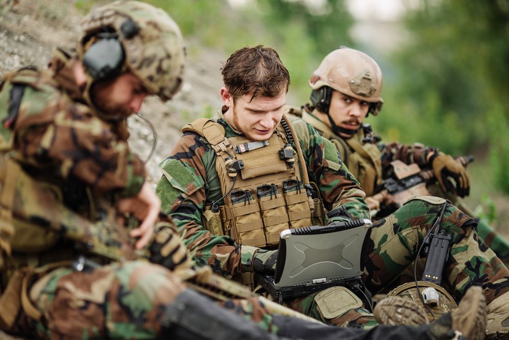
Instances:
[[[428,324],[426,312],[412,300],[389,296],[380,301],[373,311],[381,325],[419,326]]]

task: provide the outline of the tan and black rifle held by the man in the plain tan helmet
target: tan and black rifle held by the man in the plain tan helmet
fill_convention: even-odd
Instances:
[[[454,158],[464,167],[474,161],[472,155],[456,156]],[[432,169],[421,170],[415,163],[405,164],[402,161],[393,161],[389,165],[386,178],[382,183],[382,190],[371,196],[371,201],[378,201],[380,208],[370,205],[372,216],[383,218],[395,210],[403,203],[418,196],[432,196],[427,186],[434,184],[436,181],[435,173]]]

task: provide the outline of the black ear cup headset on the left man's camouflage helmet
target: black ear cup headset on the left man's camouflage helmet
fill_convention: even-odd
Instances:
[[[127,18],[120,27],[120,34],[100,32],[93,35],[99,40],[83,54],[83,65],[90,76],[96,81],[103,81],[119,75],[125,61],[121,40],[124,37],[130,39],[138,32],[138,25],[131,18]]]

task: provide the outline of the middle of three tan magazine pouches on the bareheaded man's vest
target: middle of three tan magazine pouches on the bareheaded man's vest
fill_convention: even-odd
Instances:
[[[258,202],[260,203],[260,211],[265,225],[267,245],[278,244],[279,234],[290,226],[285,208],[285,199],[281,194],[277,194],[277,197],[259,198]]]

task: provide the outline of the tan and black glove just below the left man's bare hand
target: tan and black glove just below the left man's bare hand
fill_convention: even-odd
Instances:
[[[191,267],[191,260],[187,256],[187,247],[180,239],[176,226],[169,219],[156,223],[155,236],[149,251],[149,259],[152,263],[164,266],[169,270]]]

